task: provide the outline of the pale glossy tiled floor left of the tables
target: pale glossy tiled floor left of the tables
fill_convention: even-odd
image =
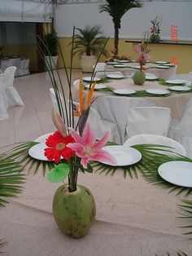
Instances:
[[[63,85],[67,79],[63,70],[59,70]],[[72,71],[72,81],[81,77],[81,70]],[[55,130],[51,119],[50,77],[48,73],[38,73],[15,78],[14,86],[18,90],[25,107],[9,108],[9,118],[0,121],[1,148],[11,143],[35,139]],[[67,86],[64,88],[67,91]]]

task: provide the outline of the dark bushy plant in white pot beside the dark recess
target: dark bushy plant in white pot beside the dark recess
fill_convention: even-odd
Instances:
[[[58,38],[57,33],[53,30],[43,36],[44,54],[46,58],[46,66],[55,69],[58,60]]]

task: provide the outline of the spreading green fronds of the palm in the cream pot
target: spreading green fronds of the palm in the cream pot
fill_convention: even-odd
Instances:
[[[78,33],[74,37],[74,52],[73,55],[79,53],[87,56],[98,55],[99,52],[103,52],[103,55],[107,51],[103,50],[103,46],[106,42],[100,26],[85,26],[85,29],[76,29]]]

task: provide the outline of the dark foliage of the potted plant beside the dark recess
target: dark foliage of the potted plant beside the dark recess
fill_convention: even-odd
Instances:
[[[50,55],[50,56],[58,55],[58,51],[57,51],[58,38],[55,30],[53,30],[53,32],[51,33],[46,33],[43,36],[43,42],[46,45],[46,47],[44,47],[45,55]]]

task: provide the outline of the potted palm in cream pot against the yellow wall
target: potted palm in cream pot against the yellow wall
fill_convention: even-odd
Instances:
[[[103,51],[106,42],[100,26],[85,26],[85,29],[76,29],[74,37],[74,55],[81,56],[81,68],[84,72],[92,72],[97,55]],[[107,51],[103,51],[106,55]]]

